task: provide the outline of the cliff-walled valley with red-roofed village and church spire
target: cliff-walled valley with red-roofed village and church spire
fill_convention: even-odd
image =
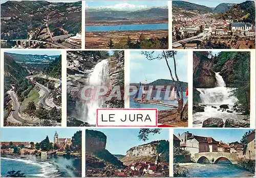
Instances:
[[[113,135],[106,136],[109,135],[108,130],[111,131],[110,129],[105,131],[86,130],[86,176],[169,176],[169,141],[151,140],[145,144],[131,147],[126,151],[126,155],[112,155],[107,149],[111,146],[106,146],[107,140],[108,145],[113,144],[111,140]],[[119,130],[118,132],[138,131],[139,129],[129,129],[129,131]],[[116,131],[112,130],[112,132]],[[133,138],[136,139],[136,137]],[[124,142],[123,144],[125,145]],[[121,148],[121,145],[116,145],[116,147],[119,152],[125,149]]]

